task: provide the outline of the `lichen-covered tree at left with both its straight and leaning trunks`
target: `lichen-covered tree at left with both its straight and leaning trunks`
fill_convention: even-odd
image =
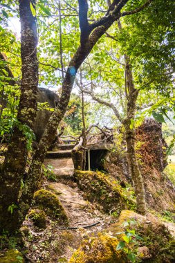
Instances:
[[[19,102],[18,120],[14,127],[5,161],[1,166],[0,177],[0,230],[14,232],[19,229],[26,213],[30,208],[33,194],[40,178],[40,172],[44,156],[49,145],[55,136],[57,126],[62,120],[73,88],[75,75],[80,65],[91,52],[93,46],[100,37],[111,27],[120,17],[132,15],[139,12],[151,3],[148,0],[135,10],[122,12],[122,8],[129,0],[113,0],[106,14],[91,24],[88,20],[89,6],[86,0],[79,0],[79,21],[80,21],[80,46],[68,64],[68,69],[62,82],[62,94],[59,105],[53,112],[44,135],[39,142],[37,150],[30,163],[24,187],[21,189],[26,168],[26,157],[28,154],[27,136],[33,126],[33,120],[37,110],[37,26],[35,17],[35,1],[19,1],[19,15],[21,20],[21,97]],[[9,194],[10,193],[10,194]],[[10,215],[9,208],[12,208]]]

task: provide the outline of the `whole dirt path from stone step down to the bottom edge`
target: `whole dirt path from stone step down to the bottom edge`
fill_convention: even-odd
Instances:
[[[53,159],[47,158],[44,164],[52,165],[53,172],[57,178],[57,182],[50,182],[45,187],[47,190],[52,191],[57,194],[57,197],[62,202],[62,206],[66,210],[68,215],[70,227],[75,227],[77,229],[60,229],[60,226],[48,226],[48,228],[41,233],[35,232],[33,229],[33,236],[36,241],[33,242],[36,245],[36,250],[38,250],[39,260],[38,262],[68,262],[73,251],[79,246],[80,242],[87,235],[94,236],[101,232],[104,228],[107,228],[109,224],[113,223],[113,219],[102,214],[100,210],[95,207],[95,204],[86,201],[83,196],[83,192],[77,188],[77,184],[73,181],[73,161],[71,158]],[[95,226],[83,229],[82,226],[89,226],[97,223]],[[41,256],[41,251],[43,248],[39,245],[42,242],[46,242],[48,238],[48,233],[52,233],[50,237],[50,247],[48,251],[51,255],[50,259],[47,259],[45,255]],[[45,239],[45,241],[43,241]],[[61,243],[61,248],[59,248],[59,253],[55,253],[54,249],[52,251],[52,244],[55,244],[55,239],[59,239]],[[62,243],[63,246],[62,246]],[[61,251],[60,251],[61,250]],[[45,248],[46,252],[46,248]],[[30,258],[32,260],[29,262],[37,262],[37,256],[35,253],[35,260],[33,260],[33,255]],[[59,254],[59,260],[58,260]],[[62,261],[63,260],[63,261]],[[65,260],[65,261],[64,261]]]

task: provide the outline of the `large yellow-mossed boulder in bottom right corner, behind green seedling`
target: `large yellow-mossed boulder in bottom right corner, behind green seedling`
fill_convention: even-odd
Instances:
[[[134,219],[133,224],[125,226],[125,221],[131,219]],[[125,240],[123,237],[128,228],[134,230],[133,233],[140,237],[138,242],[134,243],[133,250],[135,255],[138,250],[136,255],[138,260],[147,263],[174,262],[175,241],[165,225],[151,214],[142,216],[130,210],[122,210],[118,223],[112,224],[104,230],[103,234],[99,233],[98,237],[84,239],[77,251],[73,253],[69,263],[129,262],[124,251],[116,250],[118,243]]]

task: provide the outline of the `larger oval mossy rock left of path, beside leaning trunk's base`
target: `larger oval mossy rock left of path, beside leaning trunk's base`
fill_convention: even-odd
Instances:
[[[55,194],[47,190],[38,190],[34,194],[35,206],[40,210],[44,210],[46,215],[57,219],[59,224],[68,225],[68,217],[62,204]]]

